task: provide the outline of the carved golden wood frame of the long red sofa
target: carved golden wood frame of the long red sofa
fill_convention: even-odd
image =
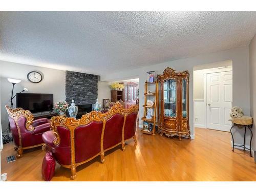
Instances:
[[[55,135],[55,139],[53,141],[53,143],[55,145],[58,145],[60,143],[60,137],[58,135],[58,131],[57,131],[57,127],[58,126],[62,126],[65,127],[66,129],[68,129],[70,131],[70,140],[71,140],[71,164],[70,165],[63,165],[60,164],[63,167],[67,167],[71,169],[71,179],[75,179],[76,177],[76,167],[86,163],[92,159],[94,159],[96,156],[101,157],[101,163],[104,163],[104,152],[110,150],[111,148],[116,147],[119,144],[122,144],[122,150],[125,150],[125,140],[124,140],[124,125],[125,125],[125,120],[126,120],[126,116],[135,112],[138,113],[138,109],[139,106],[138,105],[133,105],[131,106],[131,108],[129,109],[124,109],[123,105],[119,102],[116,102],[114,104],[114,106],[112,106],[112,108],[110,109],[110,111],[106,112],[106,113],[100,113],[97,111],[92,111],[91,113],[88,113],[86,115],[82,115],[82,117],[80,119],[75,119],[75,118],[71,118],[71,117],[62,117],[62,116],[57,116],[57,117],[52,117],[51,118],[51,130],[53,132],[53,134]],[[121,114],[124,116],[124,122],[123,122],[123,127],[122,127],[122,141],[120,143],[117,143],[115,146],[112,146],[110,148],[107,149],[103,149],[103,136],[104,136],[104,130],[105,130],[105,124],[106,121],[111,118],[113,115],[115,114]],[[87,159],[83,162],[80,163],[76,163],[75,162],[75,143],[74,143],[74,130],[80,126],[80,125],[86,125],[89,124],[92,121],[102,121],[103,122],[103,127],[102,127],[102,132],[101,132],[101,140],[100,140],[100,147],[101,147],[101,151],[99,154],[96,154],[95,156],[91,157],[90,159]],[[136,135],[134,135],[132,138],[134,138],[134,141],[137,142],[136,140]],[[129,138],[131,139],[131,138]],[[128,140],[128,139],[126,139]],[[44,144],[44,146],[42,147],[43,150],[46,151],[46,144]]]

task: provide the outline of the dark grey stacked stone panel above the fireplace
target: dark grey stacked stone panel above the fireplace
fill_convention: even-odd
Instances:
[[[66,71],[66,101],[92,104],[98,97],[98,75]]]

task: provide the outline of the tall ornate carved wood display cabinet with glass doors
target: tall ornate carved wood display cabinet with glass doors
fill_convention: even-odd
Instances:
[[[166,68],[157,75],[160,86],[160,135],[190,138],[188,121],[188,71]]]

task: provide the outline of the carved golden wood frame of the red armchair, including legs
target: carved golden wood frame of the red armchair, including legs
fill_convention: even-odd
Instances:
[[[42,144],[44,144],[44,143],[40,143],[38,145],[23,147],[22,146],[22,136],[20,134],[20,129],[19,129],[17,120],[20,117],[25,117],[26,118],[26,129],[28,131],[34,131],[35,127],[32,126],[34,116],[29,110],[24,110],[22,108],[11,109],[8,105],[5,105],[5,108],[6,108],[8,115],[15,121],[17,130],[18,130],[19,145],[17,147],[14,147],[14,150],[17,150],[17,158],[20,158],[22,156],[23,150],[26,150],[27,148],[34,148],[34,147],[41,146]]]

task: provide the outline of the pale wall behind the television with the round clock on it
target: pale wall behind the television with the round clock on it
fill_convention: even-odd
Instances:
[[[31,83],[27,79],[30,71],[39,71],[43,74],[43,79],[39,83]],[[7,78],[22,80],[15,84],[13,93],[17,93],[26,87],[27,93],[53,93],[54,102],[65,100],[65,71],[54,70],[49,68],[22,65],[19,63],[0,61],[0,80],[1,80],[1,123],[3,130],[8,126],[8,115],[5,105],[10,105],[10,97],[12,84]],[[14,108],[16,107],[16,99],[13,99]]]

